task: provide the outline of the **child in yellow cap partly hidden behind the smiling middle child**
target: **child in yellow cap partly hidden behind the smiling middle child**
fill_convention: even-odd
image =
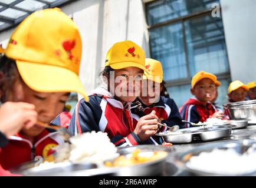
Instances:
[[[148,115],[155,110],[160,123],[165,123],[168,126],[182,124],[179,109],[174,100],[161,95],[165,87],[163,85],[161,62],[151,58],[146,58],[145,62],[146,69],[149,73],[145,73],[145,76],[143,76],[143,86],[145,87],[143,87],[139,98],[132,105],[134,121],[136,122],[140,117]],[[140,110],[140,105],[143,110]],[[160,132],[166,130],[166,127],[161,127]],[[159,139],[159,137],[156,137],[156,139]]]

